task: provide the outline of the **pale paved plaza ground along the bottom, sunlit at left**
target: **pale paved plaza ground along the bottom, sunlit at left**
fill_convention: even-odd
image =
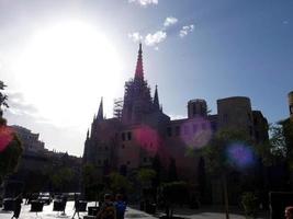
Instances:
[[[89,203],[88,206],[94,206],[94,203]],[[31,205],[22,205],[22,210],[20,215],[20,219],[58,219],[58,218],[65,218],[65,219],[71,219],[75,208],[74,208],[74,201],[67,201],[66,205],[66,215],[63,215],[61,212],[53,211],[53,203],[50,205],[45,205],[42,212],[35,214],[31,212]],[[238,210],[239,211],[239,210]],[[0,219],[11,219],[12,211],[3,211],[0,210]],[[80,217],[83,219],[83,216],[86,216],[87,212],[80,212]],[[132,207],[127,207],[125,219],[156,219],[162,214],[158,212],[156,216],[148,215],[144,211],[137,210]],[[218,207],[202,207],[198,210],[191,210],[191,209],[176,209],[174,216],[185,219],[225,219],[225,214],[218,208]],[[77,215],[75,217],[78,219]],[[268,219],[269,216],[267,212],[261,214],[259,219]],[[232,210],[230,219],[245,219],[245,216],[243,212],[237,212],[237,210]]]

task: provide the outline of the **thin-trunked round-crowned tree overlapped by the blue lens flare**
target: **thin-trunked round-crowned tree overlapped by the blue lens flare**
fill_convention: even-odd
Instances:
[[[207,146],[203,148],[203,155],[206,161],[207,171],[213,175],[218,176],[222,182],[226,219],[229,218],[227,174],[230,170],[237,166],[237,161],[241,160],[241,155],[245,155],[243,154],[245,148],[236,148],[236,151],[232,151],[232,153],[235,153],[235,159],[230,159],[227,155],[227,151],[235,142],[241,142],[243,147],[248,147],[250,143],[249,141],[248,137],[241,130],[221,129],[215,134]]]

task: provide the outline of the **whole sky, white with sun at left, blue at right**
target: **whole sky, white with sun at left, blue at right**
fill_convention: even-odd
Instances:
[[[101,96],[106,117],[134,76],[164,112],[187,117],[191,99],[249,96],[270,123],[289,116],[293,90],[291,0],[0,0],[0,80],[9,124],[45,147],[82,155]]]

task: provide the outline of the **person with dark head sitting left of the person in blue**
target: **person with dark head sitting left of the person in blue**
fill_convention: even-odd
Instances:
[[[112,201],[112,195],[104,195],[104,203],[102,204],[99,212],[97,214],[97,219],[116,219],[116,209]]]

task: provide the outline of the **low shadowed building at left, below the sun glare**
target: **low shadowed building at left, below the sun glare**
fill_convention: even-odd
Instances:
[[[71,180],[66,182],[64,192],[80,192],[81,158],[69,155],[67,152],[49,151],[40,140],[40,134],[34,134],[27,128],[21,126],[11,128],[22,142],[23,153],[18,172],[11,174],[5,182],[7,194],[10,194],[10,191],[13,194],[15,186],[19,187],[16,191],[24,193],[56,191],[53,176],[58,176],[65,169],[70,170]]]

